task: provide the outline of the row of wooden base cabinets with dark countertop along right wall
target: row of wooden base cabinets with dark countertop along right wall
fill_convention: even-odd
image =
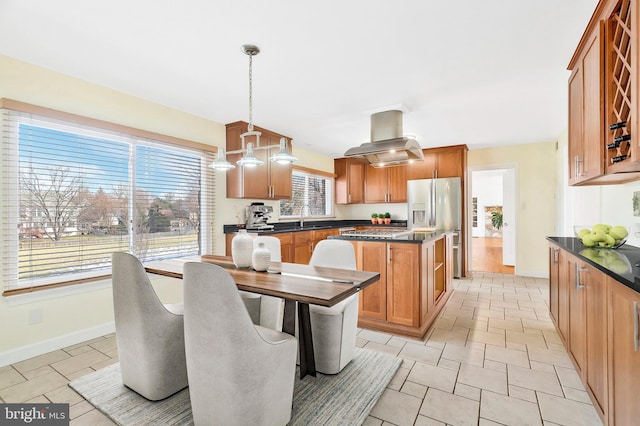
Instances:
[[[640,248],[549,241],[549,312],[602,422],[640,418]]]

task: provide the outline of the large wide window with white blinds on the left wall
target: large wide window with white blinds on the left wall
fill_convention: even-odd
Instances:
[[[5,294],[211,251],[213,152],[1,111]]]

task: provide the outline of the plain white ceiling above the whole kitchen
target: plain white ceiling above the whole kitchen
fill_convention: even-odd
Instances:
[[[552,141],[596,0],[0,0],[0,54],[340,157],[402,109],[423,148]]]

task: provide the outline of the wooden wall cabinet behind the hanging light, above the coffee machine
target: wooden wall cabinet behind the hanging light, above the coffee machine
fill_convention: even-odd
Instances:
[[[242,149],[240,135],[248,130],[249,124],[236,121],[227,124],[227,151]],[[278,145],[280,138],[291,138],[278,133],[254,126],[254,130],[261,132],[259,147]],[[255,146],[255,137],[247,137],[246,142]],[[291,146],[291,145],[289,145]],[[258,167],[236,166],[227,172],[227,198],[252,199],[289,199],[291,198],[291,170],[290,164],[278,164],[269,161],[269,157],[278,152],[278,148],[257,149],[255,155],[264,161]],[[241,154],[228,154],[227,160],[235,164]]]

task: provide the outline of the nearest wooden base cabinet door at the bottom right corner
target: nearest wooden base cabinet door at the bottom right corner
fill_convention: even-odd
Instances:
[[[640,421],[640,294],[609,281],[609,424]]]

